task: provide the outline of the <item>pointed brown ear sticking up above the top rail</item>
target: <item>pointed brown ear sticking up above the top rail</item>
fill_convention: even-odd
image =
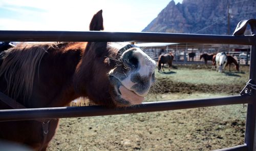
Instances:
[[[102,17],[102,10],[98,11],[92,18],[90,23],[90,30],[91,31],[100,31],[103,30],[103,17]]]

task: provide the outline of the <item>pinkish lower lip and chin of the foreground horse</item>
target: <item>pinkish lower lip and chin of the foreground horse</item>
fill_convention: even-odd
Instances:
[[[112,99],[117,107],[141,104],[144,100],[144,97],[124,87],[116,77],[109,75],[109,79],[114,88],[111,93]]]

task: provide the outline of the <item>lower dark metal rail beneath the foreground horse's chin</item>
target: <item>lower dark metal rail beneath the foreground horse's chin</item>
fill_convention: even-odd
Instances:
[[[140,105],[109,109],[104,106],[81,107],[50,107],[38,109],[0,110],[0,121],[53,119],[69,117],[89,117],[117,114],[144,113],[156,111],[169,111],[190,109],[195,107],[252,103],[250,96],[229,96],[208,99],[190,99],[178,101],[145,102]]]

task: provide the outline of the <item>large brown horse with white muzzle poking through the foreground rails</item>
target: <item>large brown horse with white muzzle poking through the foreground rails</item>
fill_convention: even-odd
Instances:
[[[90,30],[103,30],[102,10]],[[23,44],[5,51],[0,91],[27,108],[65,106],[78,97],[108,107],[130,106],[143,101],[155,67],[141,49],[123,42]],[[11,107],[0,101],[0,109]],[[0,139],[46,150],[58,119],[45,122],[46,137],[37,120],[0,122]]]

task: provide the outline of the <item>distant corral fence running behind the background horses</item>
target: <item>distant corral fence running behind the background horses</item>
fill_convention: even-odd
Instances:
[[[148,45],[149,46],[148,46]],[[160,54],[166,54],[172,52],[174,55],[174,64],[198,64],[204,63],[204,59],[200,59],[202,54],[217,54],[218,52],[225,52],[234,59],[238,61],[239,64],[250,64],[250,48],[249,46],[243,46],[242,48],[237,48],[236,45],[232,48],[224,48],[223,46],[212,46],[210,44],[183,44],[183,43],[140,43],[138,46],[142,47],[145,53],[158,60]],[[154,46],[155,44],[155,46]],[[226,46],[226,45],[225,45]],[[228,46],[226,46],[228,47]],[[194,55],[193,55],[194,54]],[[211,60],[209,60],[211,61]],[[210,62],[211,63],[211,62]]]

